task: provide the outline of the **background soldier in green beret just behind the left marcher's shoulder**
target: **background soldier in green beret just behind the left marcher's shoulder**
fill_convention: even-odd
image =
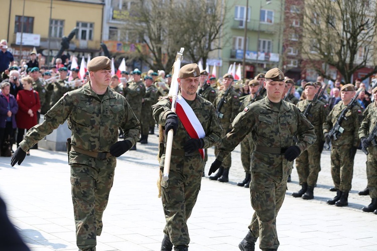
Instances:
[[[131,109],[134,111],[137,119],[141,120],[141,100],[145,94],[145,85],[141,79],[141,71],[134,70],[132,72],[133,81],[131,83],[124,84],[123,93],[127,98]],[[131,148],[136,150],[136,144]]]

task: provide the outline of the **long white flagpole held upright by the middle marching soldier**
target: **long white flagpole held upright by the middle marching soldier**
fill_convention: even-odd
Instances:
[[[175,112],[176,102],[177,102],[177,95],[178,95],[178,73],[180,69],[180,62],[183,59],[183,51],[184,48],[180,48],[180,51],[177,52],[177,56],[175,57],[175,62],[173,65],[172,70],[172,81],[169,90],[168,96],[171,97],[171,111]],[[167,181],[169,179],[169,171],[170,171],[170,159],[171,159],[171,148],[173,145],[173,129],[170,129],[167,133],[167,140],[166,140],[166,152],[165,152],[165,163],[164,163],[164,170],[162,179]]]

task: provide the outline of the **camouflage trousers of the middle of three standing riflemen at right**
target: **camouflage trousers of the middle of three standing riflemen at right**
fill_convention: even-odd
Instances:
[[[353,176],[353,158],[349,152],[351,144],[331,146],[331,176],[336,189],[346,192],[351,190]]]

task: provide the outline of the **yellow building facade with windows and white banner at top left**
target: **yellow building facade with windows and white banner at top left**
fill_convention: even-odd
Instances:
[[[0,15],[0,39],[8,40],[16,60],[21,59],[21,41],[22,58],[28,58],[33,47],[44,56],[48,56],[48,49],[51,56],[56,55],[61,38],[75,27],[77,31],[66,52],[96,56],[100,51],[103,1],[2,0],[2,8],[6,14]]]

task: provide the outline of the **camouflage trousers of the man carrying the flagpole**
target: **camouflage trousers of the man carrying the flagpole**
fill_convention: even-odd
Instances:
[[[164,163],[164,157],[162,155],[160,163]],[[163,231],[174,246],[190,243],[186,222],[197,202],[203,171],[204,161],[200,155],[172,156],[169,180],[161,181],[162,207],[166,219]]]

